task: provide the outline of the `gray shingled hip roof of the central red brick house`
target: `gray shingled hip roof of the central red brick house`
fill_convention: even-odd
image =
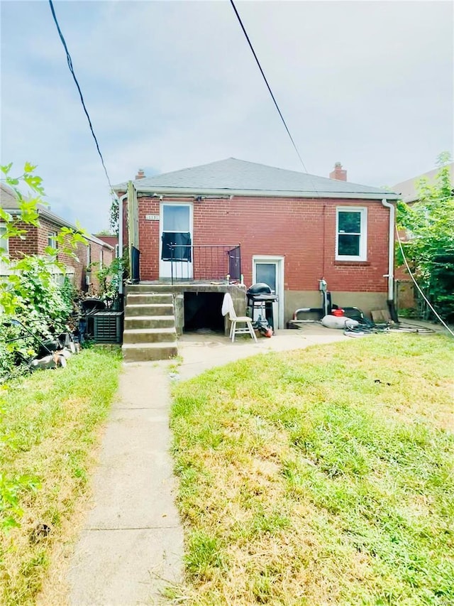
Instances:
[[[394,192],[228,158],[134,181],[154,193],[282,195],[302,198],[397,198]],[[126,183],[114,189],[126,191]]]

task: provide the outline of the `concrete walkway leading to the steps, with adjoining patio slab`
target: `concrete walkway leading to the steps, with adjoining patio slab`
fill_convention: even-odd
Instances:
[[[231,343],[221,335],[183,335],[178,342],[183,361],[177,369],[175,361],[124,364],[94,477],[94,507],[70,564],[68,602],[164,604],[162,588],[182,578],[183,531],[170,457],[172,374],[189,379],[250,355],[339,340],[349,338],[320,325],[280,330],[257,344],[245,338]]]

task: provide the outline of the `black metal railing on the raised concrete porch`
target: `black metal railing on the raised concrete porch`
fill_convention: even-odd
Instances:
[[[240,244],[169,244],[172,284],[175,281],[240,281]]]

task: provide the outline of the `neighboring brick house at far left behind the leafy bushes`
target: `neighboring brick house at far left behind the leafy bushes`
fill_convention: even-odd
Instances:
[[[13,216],[19,214],[18,202],[13,190],[4,183],[0,184],[0,205]],[[4,247],[11,259],[20,259],[23,254],[45,254],[46,247],[57,247],[57,232],[61,227],[77,229],[71,223],[58,217],[48,207],[38,205],[39,225],[26,224],[18,220],[18,227],[26,229],[25,239],[12,237],[1,240],[2,224],[0,220],[0,245]],[[81,291],[94,292],[99,288],[94,271],[90,271],[91,264],[109,266],[114,258],[114,247],[102,242],[95,236],[89,235],[87,244],[78,243],[74,251],[77,259],[59,252],[57,259],[65,265],[66,274],[75,288]],[[87,271],[87,268],[89,271]],[[2,268],[0,268],[1,273]],[[4,270],[4,268],[3,268]]]

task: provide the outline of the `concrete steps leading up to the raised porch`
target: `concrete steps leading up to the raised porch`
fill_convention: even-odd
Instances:
[[[128,288],[121,348],[126,362],[169,359],[178,355],[173,297],[150,293],[149,288]]]

